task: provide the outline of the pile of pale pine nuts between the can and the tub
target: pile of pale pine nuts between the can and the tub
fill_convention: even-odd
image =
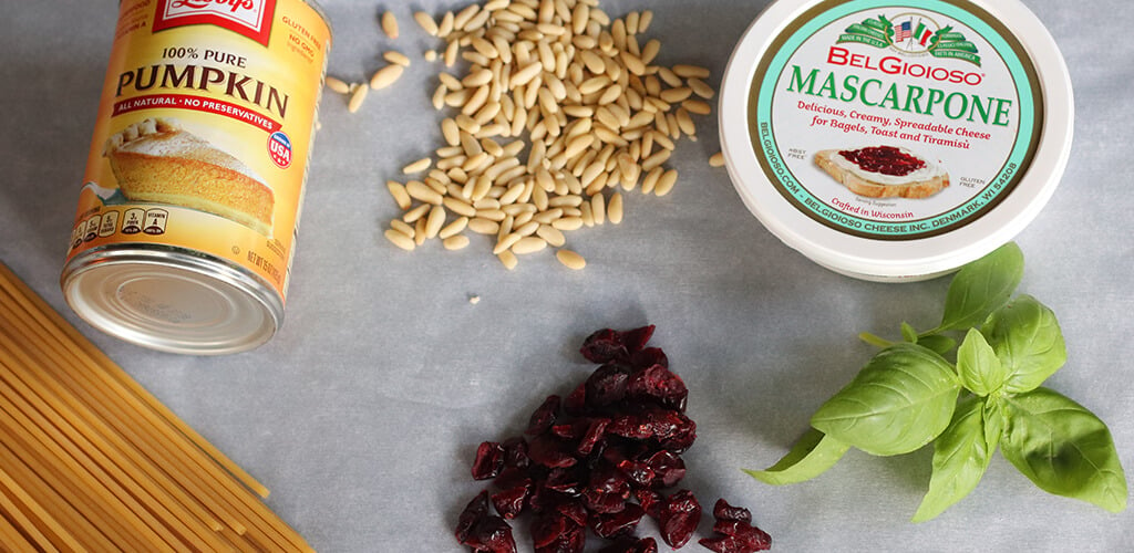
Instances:
[[[653,14],[611,19],[598,3],[488,0],[439,20],[414,14],[445,41],[443,53],[425,58],[467,69],[440,73],[432,95],[452,113],[441,121],[446,145],[406,165],[407,181],[387,182],[403,210],[384,232],[390,243],[413,250],[438,238],[460,249],[472,232],[492,237],[509,270],[548,247],[582,269],[585,260],[562,249],[565,231],[621,222],[624,192],[674,188],[677,171],[665,164],[679,138],[696,141],[693,116],[711,112],[709,70],[655,65],[661,43],[640,44]],[[397,28],[382,20],[387,34]],[[400,74],[389,68],[405,65],[387,59],[379,73]]]

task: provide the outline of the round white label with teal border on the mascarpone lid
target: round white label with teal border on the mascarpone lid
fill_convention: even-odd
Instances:
[[[821,3],[755,75],[763,171],[796,209],[860,237],[916,239],[980,218],[1022,178],[1042,126],[1023,48],[964,0]]]

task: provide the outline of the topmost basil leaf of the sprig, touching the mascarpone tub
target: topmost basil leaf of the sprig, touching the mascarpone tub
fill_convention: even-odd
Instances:
[[[1012,297],[1024,276],[1024,254],[1015,243],[1000,246],[957,272],[945,298],[938,331],[981,324],[989,313]]]

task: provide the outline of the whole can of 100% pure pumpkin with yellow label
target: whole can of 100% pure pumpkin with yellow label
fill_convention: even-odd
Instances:
[[[331,29],[304,0],[124,0],[61,284],[93,326],[228,354],[284,320]]]

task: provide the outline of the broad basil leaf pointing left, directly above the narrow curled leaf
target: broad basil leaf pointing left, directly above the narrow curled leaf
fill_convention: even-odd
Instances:
[[[811,425],[875,456],[908,453],[953,418],[960,384],[941,356],[913,343],[880,351],[827,400]]]

